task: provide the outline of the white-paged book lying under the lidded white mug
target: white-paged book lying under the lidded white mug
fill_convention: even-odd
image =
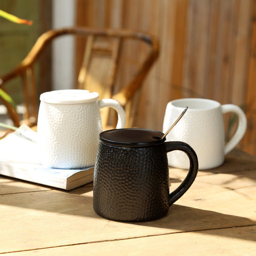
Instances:
[[[71,190],[93,181],[94,166],[86,169],[53,169],[39,164],[36,132],[22,124],[0,140],[0,174]]]

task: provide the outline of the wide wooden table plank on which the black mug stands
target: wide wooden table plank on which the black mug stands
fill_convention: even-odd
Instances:
[[[0,252],[255,226],[255,209],[252,209],[255,196],[246,195],[255,195],[255,184],[254,189],[236,189],[235,192],[220,191],[217,185],[211,187],[215,188],[209,192],[212,198],[209,194],[205,195],[207,199],[198,198],[204,186],[197,189],[196,198],[186,198],[171,206],[163,219],[142,223],[114,222],[98,217],[91,207],[90,191],[81,195],[64,195],[58,191],[29,193],[29,196],[24,193],[6,195],[5,200],[1,200],[0,227],[5,231],[0,235]]]

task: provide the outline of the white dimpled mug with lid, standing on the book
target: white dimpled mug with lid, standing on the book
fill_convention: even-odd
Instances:
[[[59,169],[93,166],[102,131],[100,108],[117,111],[117,129],[125,127],[125,112],[113,99],[97,92],[58,90],[40,95],[37,122],[41,163]]]

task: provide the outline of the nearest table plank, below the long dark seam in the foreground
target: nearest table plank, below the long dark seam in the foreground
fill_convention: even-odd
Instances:
[[[253,256],[256,227],[214,229],[167,235],[124,239],[102,243],[76,244],[50,249],[7,253],[10,256],[36,255],[191,255]],[[189,253],[188,253],[189,250]]]

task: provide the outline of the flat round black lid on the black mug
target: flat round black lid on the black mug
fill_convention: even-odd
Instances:
[[[163,143],[164,134],[148,129],[115,129],[100,133],[100,141],[111,146],[119,147],[147,147]]]

